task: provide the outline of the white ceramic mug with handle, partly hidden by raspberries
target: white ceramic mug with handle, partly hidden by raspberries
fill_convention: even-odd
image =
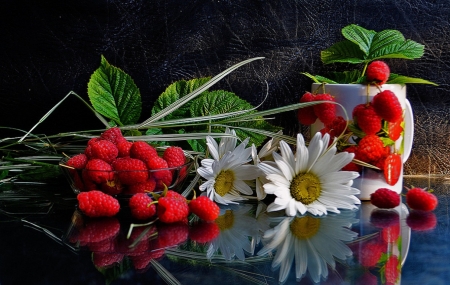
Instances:
[[[355,106],[359,104],[367,103],[367,95],[369,100],[380,92],[375,86],[367,86],[362,84],[326,84],[325,91],[323,91],[321,84],[314,83],[311,88],[312,92],[318,90],[318,93],[329,93],[334,96],[336,102],[341,104],[345,108],[345,112],[340,106],[336,108],[336,114],[348,120],[352,120],[352,111]],[[395,142],[395,148],[401,149],[403,144],[402,160],[403,163],[408,159],[413,142],[414,136],[414,121],[411,105],[406,99],[406,86],[400,84],[384,84],[381,86],[381,90],[391,90],[399,99],[400,104],[404,110],[404,133]],[[323,128],[323,124],[320,121],[316,121],[311,126],[312,134],[315,134]],[[400,178],[395,185],[389,185],[384,179],[384,175],[380,171],[376,171],[371,168],[363,167],[360,177],[354,180],[353,187],[358,188],[361,191],[359,198],[361,200],[370,200],[370,194],[375,192],[378,188],[388,188],[394,190],[397,193],[402,192],[403,186],[403,170],[401,171]]]

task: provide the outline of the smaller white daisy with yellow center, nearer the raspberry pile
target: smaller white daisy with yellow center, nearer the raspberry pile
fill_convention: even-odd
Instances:
[[[236,204],[234,201],[246,200],[240,193],[251,195],[253,191],[244,180],[255,179],[261,172],[257,166],[247,164],[251,161],[252,154],[252,148],[245,148],[249,139],[236,147],[236,133],[228,128],[225,133],[233,137],[222,138],[219,145],[212,137],[206,138],[213,158],[203,159],[202,166],[197,171],[207,179],[200,185],[200,190],[206,190],[206,195],[211,200],[228,205]]]

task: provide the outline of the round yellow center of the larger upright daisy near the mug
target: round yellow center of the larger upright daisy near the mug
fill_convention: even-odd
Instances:
[[[312,173],[299,173],[291,182],[291,196],[304,205],[308,205],[320,196],[320,179]]]

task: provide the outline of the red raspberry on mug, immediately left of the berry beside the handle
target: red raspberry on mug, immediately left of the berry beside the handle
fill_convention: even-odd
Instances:
[[[353,109],[353,120],[367,135],[374,135],[381,130],[381,118],[372,104],[360,104]]]

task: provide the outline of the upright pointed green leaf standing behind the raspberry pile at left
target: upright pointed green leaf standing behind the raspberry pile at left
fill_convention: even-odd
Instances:
[[[88,96],[94,109],[119,126],[134,124],[142,109],[141,95],[133,79],[102,56],[91,75]]]

